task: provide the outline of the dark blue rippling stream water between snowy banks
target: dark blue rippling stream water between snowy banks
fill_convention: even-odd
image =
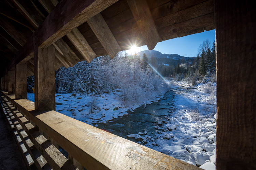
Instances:
[[[165,116],[169,117],[170,112],[174,111],[173,98],[174,92],[169,90],[160,101],[142,105],[133,112],[128,111],[129,115],[118,117],[105,124],[97,123],[98,128],[126,139],[129,134],[144,133],[144,131],[147,131],[148,135],[155,134],[158,130],[154,128],[154,123],[166,120]],[[129,140],[136,141],[134,138]]]

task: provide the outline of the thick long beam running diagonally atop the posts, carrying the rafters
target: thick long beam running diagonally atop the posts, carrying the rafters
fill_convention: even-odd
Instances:
[[[34,51],[35,45],[40,48],[48,47],[86,20],[117,1],[118,0],[73,0],[72,3],[70,3],[69,0],[62,0],[18,52],[15,61],[11,62],[12,64],[9,64],[7,68],[15,66],[13,63],[18,64],[22,61]],[[60,12],[63,10],[65,12]]]

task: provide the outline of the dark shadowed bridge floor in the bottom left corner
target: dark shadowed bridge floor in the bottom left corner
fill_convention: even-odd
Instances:
[[[0,108],[0,169],[26,170],[22,155]]]

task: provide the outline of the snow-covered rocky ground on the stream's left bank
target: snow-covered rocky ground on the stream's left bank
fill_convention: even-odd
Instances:
[[[119,89],[116,89],[110,94],[94,96],[90,94],[56,94],[56,111],[90,125],[97,122],[105,123],[106,121],[113,120],[114,118],[128,115],[128,110],[132,111],[141,105],[151,104],[160,100],[166,91],[162,92],[161,96],[141,101],[132,107],[125,106],[119,100]],[[28,100],[34,102],[34,94],[28,93]]]

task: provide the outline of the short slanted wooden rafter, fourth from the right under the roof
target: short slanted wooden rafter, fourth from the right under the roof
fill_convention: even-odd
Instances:
[[[53,46],[57,49],[58,52],[61,52],[61,55],[63,55],[66,58],[71,67],[73,67],[77,62],[80,61],[79,57],[77,57],[74,51],[71,50],[71,48],[62,38],[57,40],[53,44]]]

